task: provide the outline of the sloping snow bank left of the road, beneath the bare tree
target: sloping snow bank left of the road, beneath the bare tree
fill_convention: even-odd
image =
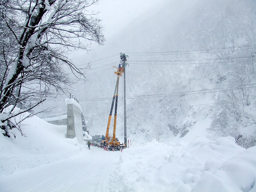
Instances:
[[[16,139],[0,134],[0,174],[66,159],[84,148],[76,138],[67,139],[66,125],[53,125],[33,116],[22,123],[26,137],[13,129]]]

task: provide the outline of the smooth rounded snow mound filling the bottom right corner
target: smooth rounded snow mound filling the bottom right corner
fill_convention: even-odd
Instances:
[[[256,191],[256,147],[248,148],[227,160],[221,169],[211,174],[205,172],[191,192],[219,191],[248,192]]]

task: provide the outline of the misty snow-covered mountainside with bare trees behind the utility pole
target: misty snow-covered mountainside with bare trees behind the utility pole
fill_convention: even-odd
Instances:
[[[255,13],[252,0],[166,1],[104,46],[78,55],[81,65],[90,62],[89,84],[74,85],[88,130],[105,133],[116,82],[112,66],[126,52],[128,138],[152,140],[160,130],[161,140],[169,140],[202,124],[209,137],[253,135]],[[116,134],[122,138],[122,79],[119,90]]]

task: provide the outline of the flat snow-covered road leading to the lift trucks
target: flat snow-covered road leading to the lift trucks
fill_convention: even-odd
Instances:
[[[109,180],[121,151],[91,147],[66,160],[2,176],[2,192],[109,191]],[[14,182],[15,181],[15,182]]]

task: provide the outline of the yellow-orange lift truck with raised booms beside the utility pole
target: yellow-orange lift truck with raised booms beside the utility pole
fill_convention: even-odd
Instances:
[[[113,66],[115,67],[115,66]],[[117,67],[115,67],[117,68]],[[124,143],[121,145],[120,141],[116,138],[116,117],[117,117],[117,102],[118,102],[118,85],[119,85],[119,77],[122,76],[124,73],[124,68],[122,68],[120,65],[117,68],[117,71],[115,72],[117,79],[116,79],[116,87],[115,87],[115,92],[114,96],[112,99],[112,104],[110,108],[110,113],[108,116],[108,125],[107,125],[107,130],[106,130],[106,135],[101,136],[101,144],[100,146],[108,148],[108,150],[120,150],[121,148],[124,148]],[[116,103],[115,103],[116,100]],[[114,103],[115,103],[115,115],[114,115],[114,127],[113,127],[113,137],[109,136],[109,127],[110,127],[110,122],[111,122],[111,117],[112,117],[112,112],[114,108]]]

